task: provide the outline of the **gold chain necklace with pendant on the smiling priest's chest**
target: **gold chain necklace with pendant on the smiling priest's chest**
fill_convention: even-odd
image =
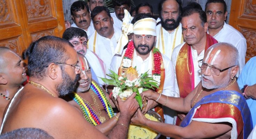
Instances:
[[[87,100],[85,100],[85,99],[83,99],[81,96],[79,96],[78,94],[78,96],[80,97],[80,98],[82,98],[82,100],[86,103],[86,104],[88,104],[89,105],[89,107],[91,107],[91,109],[92,109],[92,111],[99,117],[99,120],[100,120],[100,122],[101,123],[104,123],[104,122],[106,122],[106,117],[105,116],[101,116],[101,111],[100,111],[100,106],[99,106],[99,104],[97,103],[97,101],[96,101],[96,98],[95,98],[95,96],[94,96],[94,92],[90,89],[89,90],[89,93],[90,93],[90,95],[92,96],[92,98],[93,98],[93,104],[91,104],[89,101],[87,101]],[[96,105],[97,106],[97,111],[98,111],[98,113],[93,109],[93,107],[92,106],[94,106],[94,105]]]

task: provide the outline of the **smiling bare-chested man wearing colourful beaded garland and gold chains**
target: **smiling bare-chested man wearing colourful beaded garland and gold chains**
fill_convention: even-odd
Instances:
[[[80,79],[76,92],[70,93],[64,99],[80,110],[85,119],[104,134],[115,126],[120,113],[114,114],[115,107],[106,91],[92,80],[91,67],[84,55],[78,53]],[[95,118],[90,116],[94,115]]]

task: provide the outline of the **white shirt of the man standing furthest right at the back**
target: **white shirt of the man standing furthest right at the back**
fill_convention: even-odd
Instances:
[[[246,55],[246,39],[238,30],[236,30],[231,25],[224,23],[223,28],[213,36],[218,42],[227,42],[231,43],[238,49],[239,52],[239,67],[240,73],[245,66],[245,55]],[[240,74],[239,73],[239,74]],[[237,74],[237,75],[239,75]]]

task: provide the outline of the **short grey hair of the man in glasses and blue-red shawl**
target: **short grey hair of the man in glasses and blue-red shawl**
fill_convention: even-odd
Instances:
[[[219,42],[212,45],[210,48],[208,48],[208,50],[210,50],[211,48],[215,49],[216,47],[227,47],[229,52],[228,54],[230,56],[230,59],[228,60],[228,63],[230,64],[229,66],[239,66],[239,53],[236,47],[234,47],[231,43]]]

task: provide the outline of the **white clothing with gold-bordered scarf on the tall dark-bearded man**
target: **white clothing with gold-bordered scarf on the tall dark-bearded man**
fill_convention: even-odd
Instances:
[[[161,28],[163,29],[163,33],[161,33]],[[173,49],[179,44],[183,43],[182,36],[182,27],[181,23],[179,26],[173,30],[173,32],[169,33],[166,31],[161,24],[156,26],[156,47],[168,58],[171,59]],[[163,34],[163,36],[161,35]],[[175,42],[174,42],[175,38]],[[163,43],[162,43],[163,39]]]

